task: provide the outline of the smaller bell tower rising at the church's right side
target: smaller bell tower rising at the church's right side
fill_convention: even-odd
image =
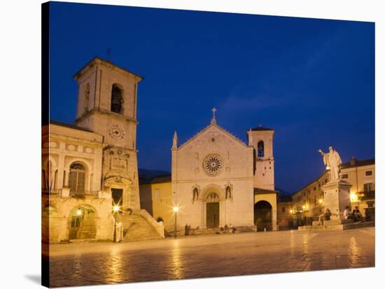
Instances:
[[[254,147],[254,188],[274,190],[274,130],[258,126],[247,132],[248,144]]]

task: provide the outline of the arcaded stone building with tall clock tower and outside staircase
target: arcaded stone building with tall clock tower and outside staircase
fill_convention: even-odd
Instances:
[[[162,223],[139,202],[136,140],[141,77],[96,57],[74,78],[78,82],[74,124],[51,121],[43,126],[44,241],[115,239],[116,223],[127,240],[163,237]]]

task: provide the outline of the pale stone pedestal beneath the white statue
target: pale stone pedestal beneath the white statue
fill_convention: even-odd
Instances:
[[[325,209],[330,209],[332,216],[330,221],[335,223],[346,222],[344,218],[344,209],[350,206],[350,188],[351,184],[347,181],[337,180],[323,185]]]

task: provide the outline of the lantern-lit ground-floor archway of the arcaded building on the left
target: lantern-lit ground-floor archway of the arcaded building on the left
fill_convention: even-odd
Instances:
[[[96,212],[89,205],[73,207],[68,217],[69,239],[94,239]]]

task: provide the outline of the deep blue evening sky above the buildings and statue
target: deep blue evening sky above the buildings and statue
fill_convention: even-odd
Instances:
[[[170,170],[172,135],[275,129],[276,187],[323,171],[318,148],[374,157],[374,23],[52,3],[50,117],[71,123],[72,75],[92,57],[144,75],[139,168]]]

